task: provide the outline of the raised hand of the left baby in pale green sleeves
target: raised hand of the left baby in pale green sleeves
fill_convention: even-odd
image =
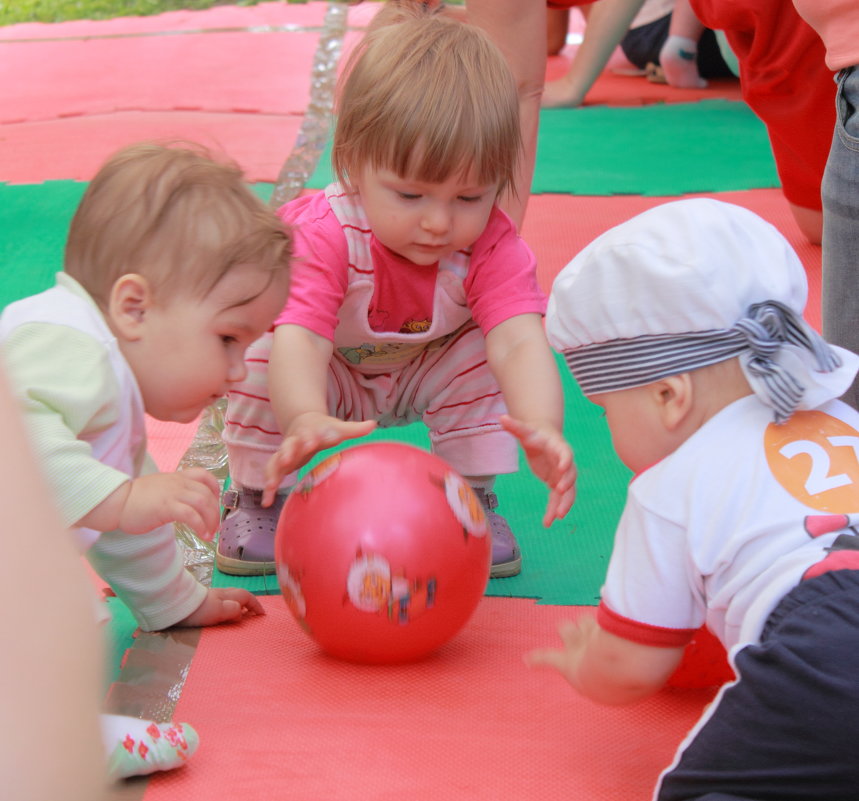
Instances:
[[[116,528],[145,534],[166,523],[184,523],[198,537],[211,540],[218,530],[218,482],[202,467],[176,473],[140,476],[127,489]]]

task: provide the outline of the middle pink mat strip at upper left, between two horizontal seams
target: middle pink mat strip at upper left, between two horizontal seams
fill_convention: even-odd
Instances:
[[[127,110],[303,114],[318,33],[0,44],[0,122]]]

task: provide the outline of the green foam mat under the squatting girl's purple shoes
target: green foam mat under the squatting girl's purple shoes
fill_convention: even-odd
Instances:
[[[524,457],[518,473],[498,477],[498,511],[507,518],[522,548],[522,572],[490,580],[486,594],[535,598],[546,604],[593,605],[605,578],[630,473],[614,454],[602,411],[585,400],[563,359],[557,361],[567,399],[564,433],[575,450],[579,469],[576,503],[564,520],[546,529],[542,516],[548,490],[531,474]],[[380,439],[429,448],[422,424],[387,428],[366,438]],[[274,575],[227,576],[217,568],[212,585],[244,587],[260,595],[280,591]]]

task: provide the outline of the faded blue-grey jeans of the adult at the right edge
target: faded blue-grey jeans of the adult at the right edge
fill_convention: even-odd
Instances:
[[[837,76],[832,149],[823,174],[823,336],[859,352],[859,67]],[[859,408],[859,380],[843,398]]]

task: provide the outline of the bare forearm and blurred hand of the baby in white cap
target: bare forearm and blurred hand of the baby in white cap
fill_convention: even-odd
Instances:
[[[593,616],[559,627],[562,648],[526,654],[532,667],[557,670],[582,695],[601,704],[629,704],[659,691],[680,664],[683,647],[660,648],[625,640]]]

